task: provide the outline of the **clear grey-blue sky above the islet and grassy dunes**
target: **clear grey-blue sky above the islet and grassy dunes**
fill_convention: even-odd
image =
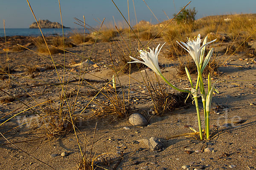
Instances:
[[[6,28],[29,28],[35,22],[35,18],[26,0],[1,0],[0,5],[0,28],[3,28],[5,20]],[[116,6],[128,20],[128,3],[131,23],[146,20],[155,24],[158,21],[146,6],[153,11],[157,19],[161,22],[167,20],[166,14],[171,18],[180,8],[189,3],[189,0],[113,0]],[[58,0],[29,0],[32,10],[37,19],[50,20],[61,23]],[[99,26],[105,18],[105,24],[124,23],[122,15],[114,6],[111,0],[60,0],[63,25],[70,28],[80,28],[74,17],[83,20],[90,26]],[[221,14],[248,14],[256,13],[256,0],[192,0],[187,8],[196,9],[196,19],[209,15]],[[164,14],[164,12],[166,14]],[[117,24],[118,25],[118,24]]]

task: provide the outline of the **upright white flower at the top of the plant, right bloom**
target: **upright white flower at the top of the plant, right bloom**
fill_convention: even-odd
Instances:
[[[189,52],[189,54],[191,55],[191,57],[194,59],[195,61],[195,64],[198,68],[200,68],[200,53],[201,53],[201,49],[204,48],[206,45],[208,45],[209,43],[211,42],[214,42],[215,40],[212,40],[210,42],[207,42],[207,43],[204,43],[201,47],[200,47],[200,44],[201,44],[201,35],[198,34],[198,37],[195,38],[195,40],[190,40],[188,38],[188,42],[185,44],[184,42],[181,42],[185,47],[183,47],[182,45],[180,45],[179,42],[177,42],[182,48],[184,48],[186,51]]]

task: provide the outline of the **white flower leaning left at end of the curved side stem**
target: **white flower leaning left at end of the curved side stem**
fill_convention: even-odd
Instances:
[[[140,50],[140,58],[143,59],[144,62],[130,56],[130,58],[134,59],[135,61],[128,62],[128,63],[134,63],[134,62],[143,63],[146,66],[148,66],[149,68],[151,68],[156,74],[162,75],[159,65],[158,65],[158,54],[159,54],[161,48],[163,47],[163,45],[161,46],[161,48],[158,51],[159,45],[157,45],[157,48],[155,49],[155,51],[154,51],[154,48],[153,48],[153,50],[151,50],[151,48],[149,48],[150,52]]]

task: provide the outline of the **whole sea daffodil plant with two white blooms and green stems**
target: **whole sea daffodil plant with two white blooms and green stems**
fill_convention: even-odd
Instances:
[[[198,37],[195,38],[195,40],[191,41],[190,39],[188,39],[187,43],[181,42],[181,44],[183,44],[186,48],[184,48],[182,45],[181,46],[186,51],[189,52],[192,59],[195,61],[195,64],[196,64],[197,70],[198,70],[198,79],[197,79],[196,86],[194,88],[189,71],[187,70],[187,68],[185,68],[186,74],[187,74],[187,76],[189,78],[189,82],[191,84],[190,91],[187,89],[179,89],[179,88],[175,87],[161,73],[161,70],[158,65],[158,54],[160,53],[160,50],[162,49],[164,44],[160,47],[159,51],[158,51],[158,48],[159,48],[160,44],[157,45],[157,48],[155,49],[155,51],[154,51],[154,48],[153,48],[153,50],[151,50],[151,48],[148,48],[150,50],[150,52],[145,51],[145,50],[140,50],[139,51],[140,58],[143,59],[143,61],[140,61],[139,59],[135,59],[134,57],[130,56],[130,58],[134,59],[135,61],[128,62],[128,63],[134,63],[134,62],[143,63],[143,64],[147,65],[149,68],[151,68],[156,74],[158,74],[168,85],[170,85],[175,90],[192,94],[193,98],[195,99],[196,111],[197,111],[197,116],[198,116],[198,128],[199,128],[199,134],[200,134],[201,140],[203,140],[203,134],[202,134],[201,118],[200,118],[199,107],[198,107],[198,97],[199,96],[202,97],[202,102],[203,102],[203,106],[204,106],[205,125],[206,125],[206,132],[207,132],[206,139],[209,139],[209,111],[210,111],[210,107],[211,107],[210,103],[211,103],[211,99],[212,99],[212,93],[213,93],[213,90],[215,90],[215,84],[211,87],[211,85],[210,85],[211,82],[208,82],[208,85],[210,88],[209,88],[208,93],[206,94],[204,91],[204,82],[203,82],[202,72],[204,71],[204,68],[207,66],[207,64],[210,60],[210,57],[212,56],[212,52],[213,52],[213,48],[212,48],[204,59],[205,47],[206,47],[206,45],[208,45],[209,43],[214,42],[214,41],[215,40],[207,42],[207,37],[206,37],[204,39],[203,45],[200,47],[201,36],[200,36],[200,34],[198,34]],[[203,60],[204,60],[204,62],[203,62]],[[210,75],[209,75],[208,79],[210,79]],[[198,85],[200,87],[200,92],[201,92],[200,95],[197,94]]]

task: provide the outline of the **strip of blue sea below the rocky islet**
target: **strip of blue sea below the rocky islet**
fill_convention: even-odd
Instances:
[[[62,36],[61,28],[41,28],[44,36]],[[6,36],[41,36],[41,32],[38,28],[6,28]],[[64,36],[69,36],[72,33],[84,33],[83,28],[64,28]],[[88,30],[85,30],[85,33],[89,33]],[[4,29],[0,28],[0,37],[4,37]]]

